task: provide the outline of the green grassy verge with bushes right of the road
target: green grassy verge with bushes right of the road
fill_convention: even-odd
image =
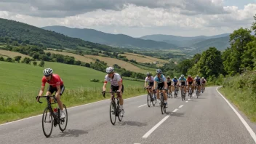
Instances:
[[[220,92],[252,122],[256,122],[256,72],[226,79]]]

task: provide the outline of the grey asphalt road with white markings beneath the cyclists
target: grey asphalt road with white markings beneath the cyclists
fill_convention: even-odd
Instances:
[[[42,131],[41,116],[2,124],[0,143],[255,143],[216,87],[207,88],[198,99],[169,99],[165,114],[159,104],[148,108],[145,95],[126,99],[124,119],[117,119],[115,126],[109,104],[104,100],[68,108],[67,129],[54,127],[49,138]]]

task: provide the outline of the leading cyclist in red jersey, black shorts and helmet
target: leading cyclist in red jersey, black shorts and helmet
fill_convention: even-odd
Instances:
[[[65,118],[65,113],[63,111],[63,103],[60,100],[60,96],[63,95],[63,92],[65,90],[63,80],[60,79],[60,76],[52,73],[52,68],[45,68],[44,69],[44,76],[41,79],[41,90],[39,92],[39,96],[41,96],[44,92],[45,83],[49,84],[49,87],[47,89],[47,96],[52,95],[53,92],[55,92],[55,98],[57,100],[57,104],[60,108],[60,119]],[[39,97],[37,98],[37,101],[39,100]],[[52,99],[51,99],[52,103]]]

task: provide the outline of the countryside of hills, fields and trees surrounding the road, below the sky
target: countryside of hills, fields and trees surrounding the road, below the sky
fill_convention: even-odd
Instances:
[[[0,124],[42,113],[46,101],[41,105],[36,96],[45,68],[63,79],[61,99],[68,108],[110,99],[101,94],[109,66],[122,76],[124,99],[146,95],[146,73],[156,76],[156,69],[171,79],[198,75],[207,80],[206,92],[218,88],[255,124],[256,15],[250,19],[248,27],[211,36],[128,36],[0,18]]]

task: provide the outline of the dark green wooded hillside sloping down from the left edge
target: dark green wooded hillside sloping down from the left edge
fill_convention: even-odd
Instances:
[[[119,49],[113,49],[106,45],[71,38],[60,33],[47,31],[32,25],[2,18],[0,18],[0,36],[8,36],[9,38],[23,41],[23,43],[26,44],[36,44],[58,49],[66,47],[71,49],[96,48],[100,50],[107,50],[109,52],[119,51]]]

